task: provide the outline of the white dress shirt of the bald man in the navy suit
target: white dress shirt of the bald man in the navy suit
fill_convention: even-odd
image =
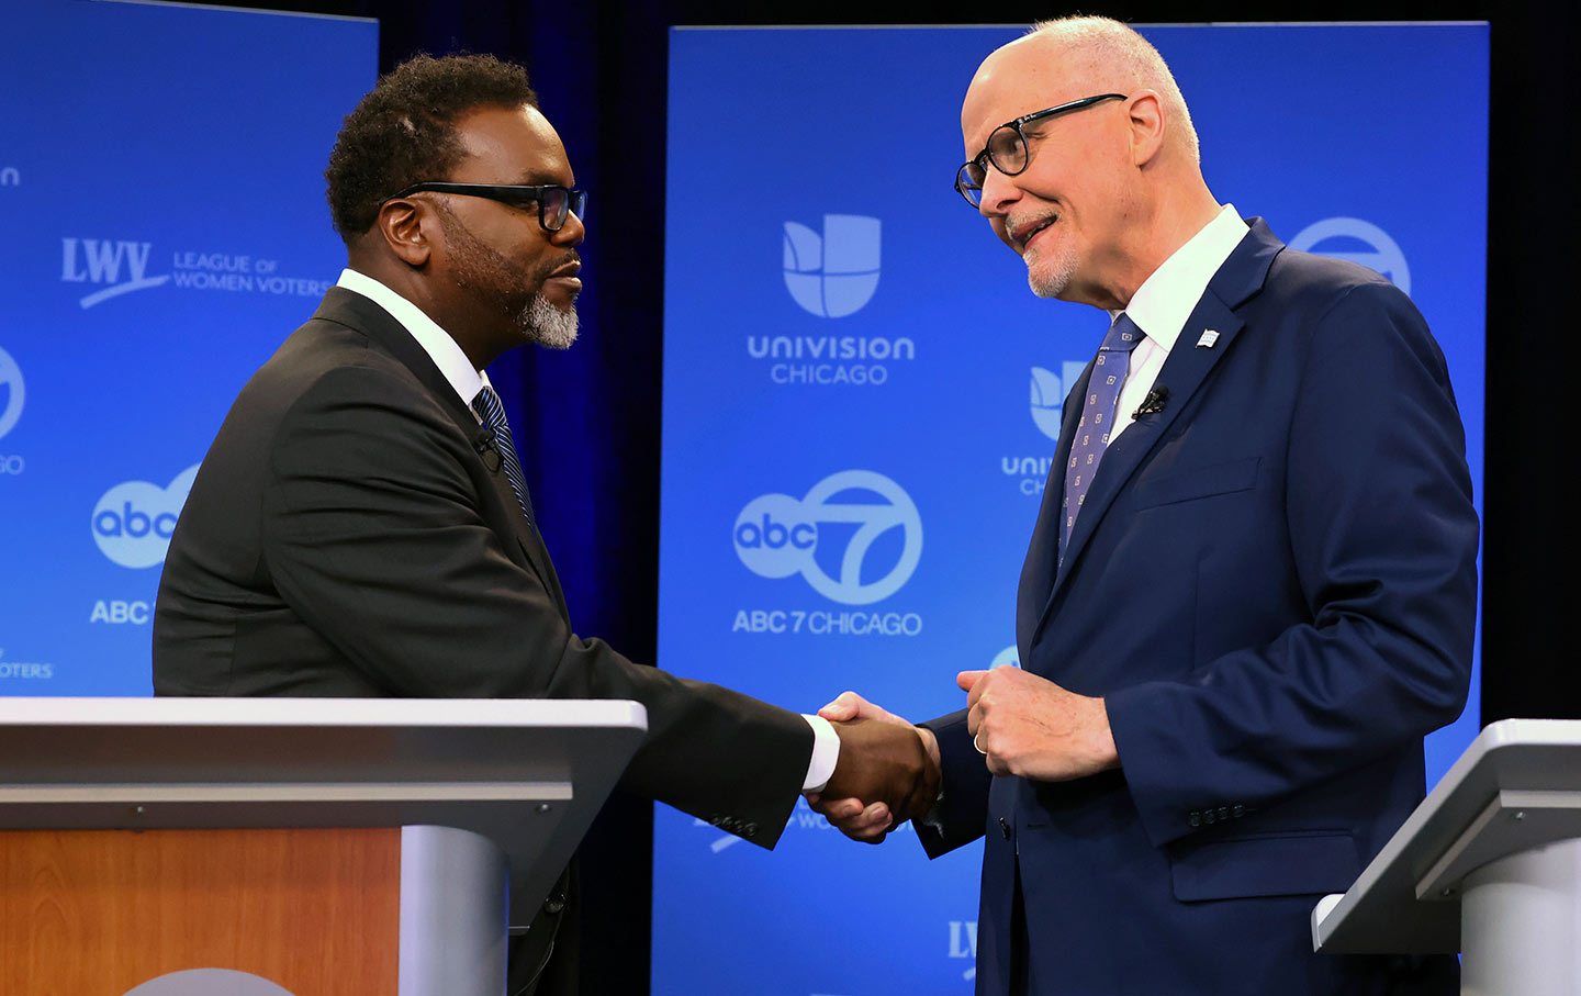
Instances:
[[[1153,390],[1153,383],[1159,379],[1164,360],[1170,357],[1186,319],[1208,291],[1208,281],[1249,231],[1235,206],[1225,204],[1213,221],[1175,250],[1130,296],[1126,315],[1137,323],[1146,338],[1130,353],[1126,383],[1119,387],[1119,406],[1115,408],[1115,427],[1108,433],[1110,446],[1130,425],[1130,413],[1140,408]],[[1111,316],[1118,318],[1119,311],[1113,311]]]

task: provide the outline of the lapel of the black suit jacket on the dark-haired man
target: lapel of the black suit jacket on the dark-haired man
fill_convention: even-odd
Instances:
[[[411,337],[411,332],[405,329],[395,318],[376,305],[373,300],[348,291],[345,288],[330,288],[324,294],[324,300],[319,304],[318,311],[313,318],[321,318],[324,321],[332,321],[348,329],[362,332],[370,340],[373,340],[386,353],[398,359],[413,376],[422,383],[428,394],[438,400],[444,413],[451,416],[455,427],[470,441],[476,443],[477,436],[482,433],[482,427],[477,424],[477,417],[473,409],[468,408],[462,398],[455,394],[444,375],[433,364],[428,353]],[[544,549],[542,539],[538,536],[538,530],[526,525],[526,519],[522,515],[520,506],[515,500],[515,492],[511,490],[511,481],[506,477],[504,470],[493,468],[484,463],[482,454],[477,446],[473,446],[474,458],[487,471],[490,482],[493,484],[495,496],[504,509],[504,520],[509,522],[511,536],[506,538],[508,545],[511,539],[515,539],[515,547],[522,550],[522,555],[542,579],[544,587],[549,588],[557,602],[563,604],[560,596],[560,585],[555,579],[552,564],[549,563],[549,550]]]

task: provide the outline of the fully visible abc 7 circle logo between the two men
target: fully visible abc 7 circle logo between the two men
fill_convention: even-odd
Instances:
[[[881,501],[833,501],[844,492],[868,492]],[[814,556],[819,525],[832,523],[855,526],[840,556],[838,577],[830,577]],[[863,583],[868,552],[896,528],[904,531],[900,560],[884,577]],[[846,606],[866,606],[895,594],[922,558],[922,519],[911,496],[884,474],[862,470],[824,477],[800,501],[790,495],[754,498],[735,517],[734,536],[735,553],[753,574],[775,579],[800,574],[814,591]]]

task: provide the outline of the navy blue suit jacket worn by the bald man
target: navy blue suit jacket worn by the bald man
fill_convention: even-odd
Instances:
[[[1478,526],[1443,356],[1382,277],[1252,220],[1156,384],[1061,564],[1067,400],[1017,599],[1023,666],[1107,699],[1121,770],[993,778],[963,713],[928,724],[923,846],[987,832],[977,990],[1018,960],[1034,993],[1453,993],[1453,958],[1314,955],[1307,925],[1466,702]]]

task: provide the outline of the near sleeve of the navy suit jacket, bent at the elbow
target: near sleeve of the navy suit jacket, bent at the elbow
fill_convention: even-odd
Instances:
[[[1478,525],[1443,356],[1382,283],[1344,291],[1309,349],[1285,463],[1309,621],[1107,699],[1154,844],[1194,809],[1263,808],[1420,743],[1466,704]]]

